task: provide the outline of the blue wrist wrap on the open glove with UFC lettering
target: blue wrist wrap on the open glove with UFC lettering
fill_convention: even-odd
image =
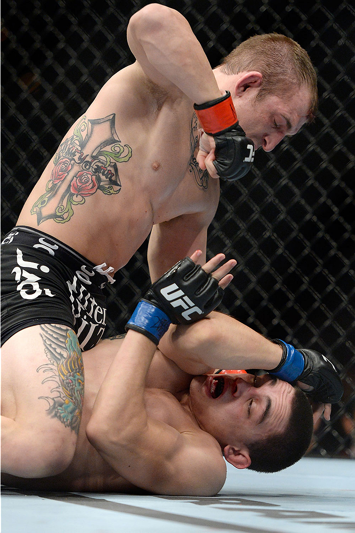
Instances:
[[[144,300],[138,303],[130,320],[127,322],[129,329],[134,329],[135,331],[144,330],[144,334],[156,344],[167,332],[170,324],[171,320],[164,311]],[[126,329],[128,328],[126,327]]]

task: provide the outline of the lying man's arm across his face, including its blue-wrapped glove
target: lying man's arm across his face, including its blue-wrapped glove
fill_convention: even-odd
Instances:
[[[269,341],[222,313],[211,313],[189,329],[171,326],[159,349],[191,374],[203,374],[215,368],[254,368],[289,383],[297,382],[313,399],[325,404],[327,419],[330,403],[338,402],[343,394],[340,376],[324,355],[316,350],[295,349],[278,339]]]

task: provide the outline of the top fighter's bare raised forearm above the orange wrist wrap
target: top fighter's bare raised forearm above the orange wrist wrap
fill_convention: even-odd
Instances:
[[[159,4],[143,7],[130,20],[127,40],[136,57],[144,56],[192,102],[221,96],[201,45],[178,11]]]

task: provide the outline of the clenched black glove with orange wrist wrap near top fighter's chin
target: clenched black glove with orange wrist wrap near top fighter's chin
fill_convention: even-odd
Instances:
[[[216,143],[213,165],[218,175],[227,181],[239,180],[254,161],[254,143],[239,126],[229,91],[215,100],[195,104],[193,109],[204,132]]]

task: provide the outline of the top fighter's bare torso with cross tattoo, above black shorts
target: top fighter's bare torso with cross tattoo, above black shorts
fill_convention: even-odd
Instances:
[[[95,115],[94,115],[95,116]],[[121,268],[152,225],[203,210],[197,120],[166,106],[129,122],[83,115],[63,139],[20,215],[95,263]]]

